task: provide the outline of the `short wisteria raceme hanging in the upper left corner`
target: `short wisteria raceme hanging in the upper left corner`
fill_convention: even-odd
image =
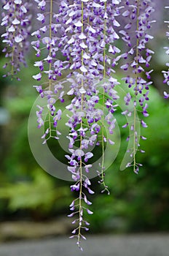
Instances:
[[[7,72],[7,75],[13,77],[20,71],[20,64],[26,65],[25,51],[28,50],[28,36],[31,31],[31,14],[29,12],[31,3],[25,0],[3,0],[2,2],[4,5],[1,26],[4,26],[5,33],[1,37],[3,37],[2,42],[7,45],[3,52],[9,59],[4,68],[10,65],[11,70]]]

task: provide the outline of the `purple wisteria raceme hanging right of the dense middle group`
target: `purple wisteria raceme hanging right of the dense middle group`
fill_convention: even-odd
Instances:
[[[154,8],[152,7],[151,0],[139,1],[129,0],[125,3],[125,10],[122,12],[122,16],[125,17],[125,27],[119,31],[122,34],[122,40],[125,42],[127,50],[121,54],[122,66],[121,69],[127,73],[125,81],[130,92],[127,92],[124,97],[125,105],[129,106],[127,111],[122,114],[127,116],[133,116],[133,121],[130,124],[125,124],[123,127],[129,127],[133,131],[132,138],[127,140],[133,140],[133,147],[128,152],[132,162],[127,164],[127,167],[133,165],[135,173],[138,173],[138,167],[140,164],[135,162],[135,154],[138,151],[139,139],[137,132],[137,121],[135,120],[135,113],[141,112],[142,116],[149,116],[147,112],[149,100],[149,86],[152,85],[151,72],[149,70],[149,62],[152,59],[154,53],[151,49],[147,48],[147,42],[152,39],[152,35],[149,34],[149,29],[152,26],[154,20],[151,19]],[[133,75],[131,75],[133,73]],[[144,78],[146,77],[146,79]],[[130,102],[134,101],[134,108],[130,108]],[[140,116],[140,124],[146,128],[147,125],[143,121],[143,117]],[[139,150],[143,152],[142,150]],[[132,161],[132,160],[131,160]]]

